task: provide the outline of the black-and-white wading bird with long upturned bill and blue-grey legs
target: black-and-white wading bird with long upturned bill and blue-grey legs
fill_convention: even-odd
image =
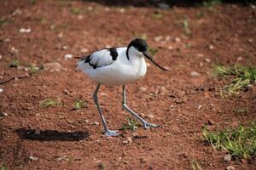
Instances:
[[[145,121],[135,111],[132,111],[126,103],[125,85],[136,82],[145,76],[147,65],[145,59],[149,59],[154,65],[163,71],[166,68],[158,65],[148,54],[148,44],[142,38],[133,39],[127,47],[102,48],[92,54],[82,56],[78,63],[78,68],[84,72],[92,81],[96,82],[96,89],[93,93],[93,99],[96,109],[99,112],[106,136],[118,136],[118,131],[109,130],[105,117],[98,101],[98,92],[101,85],[122,86],[123,91],[123,109],[131,113],[144,128],[159,127],[156,124]]]

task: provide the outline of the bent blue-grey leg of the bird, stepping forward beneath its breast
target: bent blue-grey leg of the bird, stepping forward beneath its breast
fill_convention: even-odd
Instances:
[[[131,111],[131,109],[126,105],[125,85],[123,86],[123,108],[124,108],[126,111],[129,111],[132,116],[135,116],[135,117],[137,118],[137,120],[139,120],[140,122],[142,122],[144,128],[159,127],[158,125],[155,125],[155,124],[152,124],[152,123],[149,123],[149,122],[143,120],[142,117],[138,116],[134,111]]]

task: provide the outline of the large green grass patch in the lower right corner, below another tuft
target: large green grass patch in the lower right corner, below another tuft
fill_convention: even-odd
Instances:
[[[251,158],[256,155],[256,122],[219,132],[203,130],[204,140],[215,150],[228,150],[234,158]]]

